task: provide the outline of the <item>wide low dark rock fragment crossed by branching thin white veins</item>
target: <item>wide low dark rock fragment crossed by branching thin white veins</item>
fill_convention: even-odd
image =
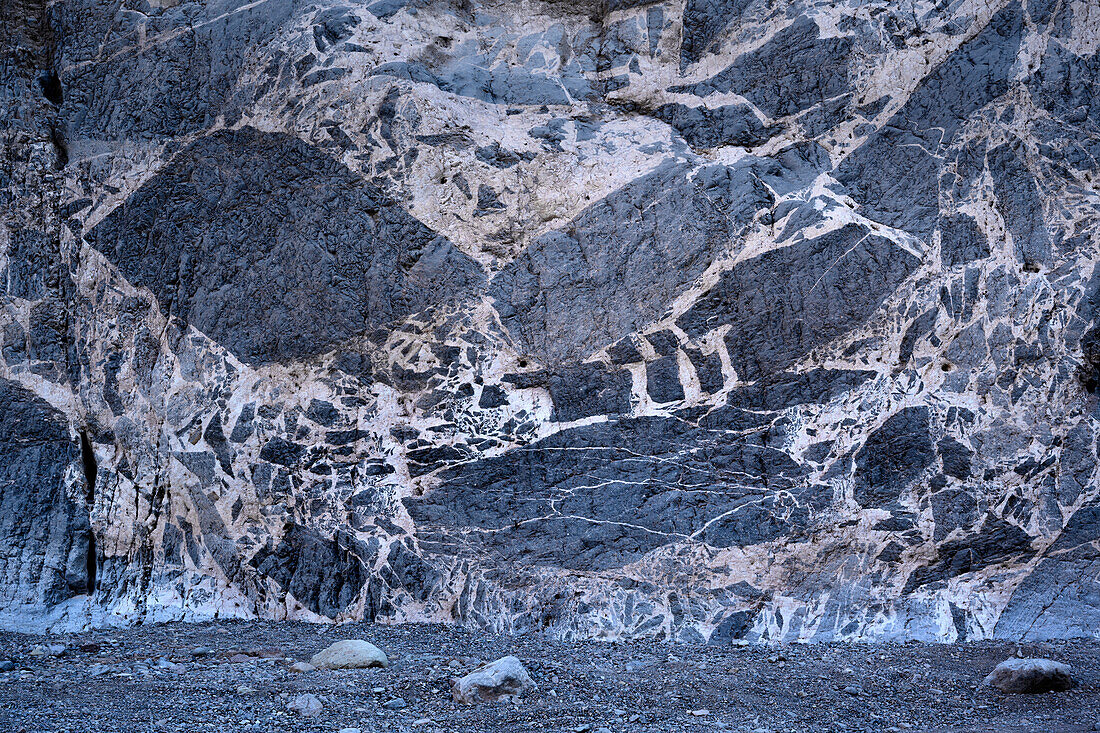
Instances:
[[[722,419],[712,415],[711,429],[660,418],[573,428],[448,469],[405,504],[436,551],[453,551],[444,528],[483,528],[471,539],[501,558],[573,569],[617,567],[696,533],[728,547],[804,526],[798,464],[760,434],[715,433]]]

